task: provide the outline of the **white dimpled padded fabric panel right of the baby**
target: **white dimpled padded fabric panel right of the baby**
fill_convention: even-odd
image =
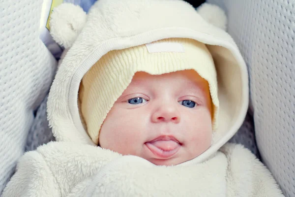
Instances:
[[[248,65],[256,140],[285,196],[295,196],[295,0],[208,0]]]

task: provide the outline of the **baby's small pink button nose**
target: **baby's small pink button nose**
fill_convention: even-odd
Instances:
[[[180,113],[176,106],[161,106],[157,108],[152,115],[152,122],[180,122]]]

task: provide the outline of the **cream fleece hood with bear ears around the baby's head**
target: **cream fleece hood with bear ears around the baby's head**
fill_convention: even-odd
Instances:
[[[218,130],[212,146],[194,161],[206,160],[223,146],[246,115],[248,75],[234,40],[222,29],[226,18],[212,21],[220,10],[206,6],[196,11],[182,0],[98,0],[88,15],[68,3],[54,9],[51,33],[59,44],[69,48],[48,98],[48,120],[56,140],[95,145],[79,115],[78,91],[84,74],[104,54],[178,37],[205,43],[218,75]]]

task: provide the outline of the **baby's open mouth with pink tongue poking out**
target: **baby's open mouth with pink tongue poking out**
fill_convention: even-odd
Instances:
[[[169,159],[177,153],[181,144],[173,136],[159,136],[156,139],[145,143],[148,149],[158,159]]]

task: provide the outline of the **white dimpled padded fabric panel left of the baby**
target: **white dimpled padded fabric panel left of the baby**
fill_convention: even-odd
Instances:
[[[0,193],[47,94],[56,60],[39,39],[42,0],[0,0]]]

